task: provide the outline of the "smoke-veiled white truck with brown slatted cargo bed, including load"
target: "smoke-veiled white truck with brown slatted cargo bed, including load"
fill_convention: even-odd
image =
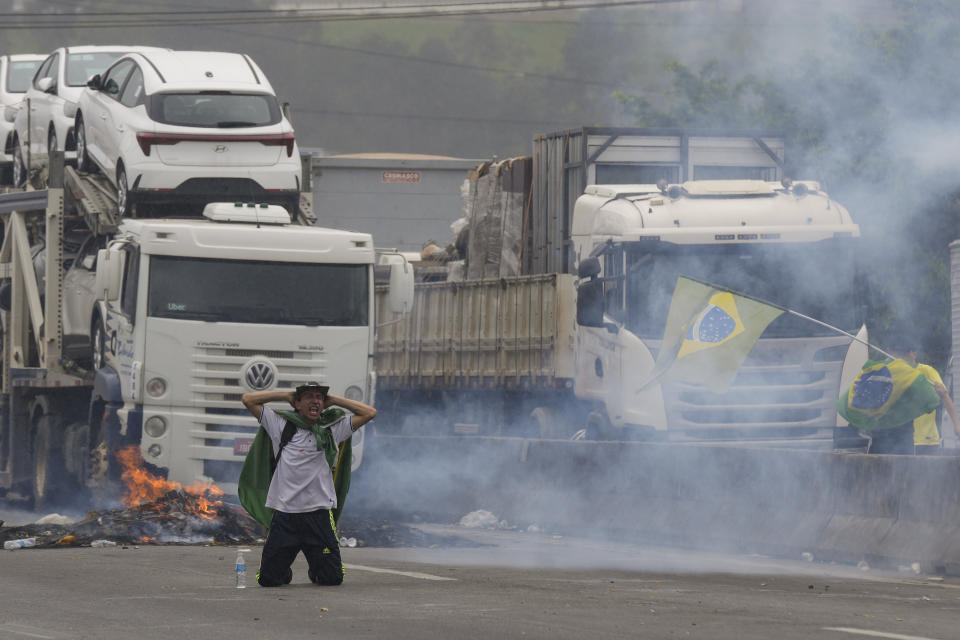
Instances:
[[[519,257],[504,262],[519,267],[470,278],[471,260],[494,252],[468,252],[466,279],[417,284],[412,314],[378,334],[380,428],[396,416],[401,431],[824,445],[843,433],[834,405],[866,346],[792,315],[768,327],[726,393],[646,385],[680,275],[866,339],[859,229],[847,210],[817,183],[781,181],[776,140],[701,137],[720,163],[702,173],[721,179],[681,179],[694,173],[692,136],[611,129],[540,137],[531,158],[475,174],[476,193],[508,203],[493,208],[517,196],[519,226],[505,231],[507,215],[497,233],[516,240]],[[624,138],[633,152],[612,156],[621,165],[598,166]],[[659,184],[589,184],[604,171]],[[722,178],[737,175],[746,177]],[[477,231],[471,222],[471,246],[484,246]]]

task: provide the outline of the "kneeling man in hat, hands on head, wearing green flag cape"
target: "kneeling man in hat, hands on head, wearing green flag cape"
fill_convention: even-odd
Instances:
[[[336,520],[350,485],[350,437],[377,410],[328,391],[308,382],[294,391],[254,391],[240,398],[262,427],[237,489],[244,509],[268,529],[257,572],[262,587],[289,584],[300,551],[311,582],[343,582]],[[268,402],[288,402],[295,411],[274,411]]]

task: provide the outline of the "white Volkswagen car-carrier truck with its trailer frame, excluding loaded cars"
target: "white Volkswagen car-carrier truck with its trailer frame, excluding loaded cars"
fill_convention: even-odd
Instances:
[[[100,177],[56,173],[0,196],[0,491],[54,504],[103,485],[134,445],[169,481],[235,493],[258,428],[243,393],[313,380],[373,401],[369,234],[242,203],[117,219]],[[412,273],[390,269],[403,309]]]

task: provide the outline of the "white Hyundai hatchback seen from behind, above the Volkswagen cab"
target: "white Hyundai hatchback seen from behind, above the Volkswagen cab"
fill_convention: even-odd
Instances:
[[[278,204],[296,215],[301,164],[293,127],[249,56],[126,55],[80,96],[77,163],[113,183],[120,215],[214,201]]]

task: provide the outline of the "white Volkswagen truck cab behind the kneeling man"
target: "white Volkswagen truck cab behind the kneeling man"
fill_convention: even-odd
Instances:
[[[100,252],[92,319],[108,448],[139,443],[168,480],[235,492],[258,428],[243,393],[316,380],[373,402],[371,237],[289,221],[230,204],[122,221]]]

